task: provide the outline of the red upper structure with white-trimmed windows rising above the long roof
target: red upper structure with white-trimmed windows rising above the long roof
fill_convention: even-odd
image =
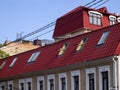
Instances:
[[[106,7],[99,9],[79,6],[56,21],[53,38],[60,41],[120,22],[120,16],[109,13]]]

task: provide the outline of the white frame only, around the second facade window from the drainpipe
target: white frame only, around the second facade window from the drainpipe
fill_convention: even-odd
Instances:
[[[85,69],[86,71],[86,90],[89,90],[89,74],[94,73],[94,87],[96,90],[96,69],[95,68],[88,68]]]

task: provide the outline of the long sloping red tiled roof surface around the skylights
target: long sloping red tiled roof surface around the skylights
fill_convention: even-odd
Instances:
[[[108,30],[110,30],[110,33],[105,43],[103,45],[97,46],[97,43],[103,32]],[[75,49],[77,48],[77,45],[80,43],[81,39],[85,37],[88,37],[88,40],[84,48],[82,51],[76,52]],[[66,42],[69,43],[69,47],[65,51],[64,55],[58,56],[59,49]],[[36,61],[27,63],[31,54],[36,51],[41,51]],[[78,62],[83,62],[84,60],[86,62],[92,61],[98,58],[113,56],[115,54],[120,54],[120,24],[106,27],[97,31],[86,33],[0,60],[0,65],[3,61],[7,62],[3,69],[0,70],[0,79],[29,72],[71,65]],[[10,63],[15,57],[18,57],[18,60],[13,67],[9,68]]]

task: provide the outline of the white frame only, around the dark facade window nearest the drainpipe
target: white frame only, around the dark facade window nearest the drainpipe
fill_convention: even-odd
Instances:
[[[101,73],[104,72],[104,71],[108,71],[108,90],[110,90],[110,66],[107,65],[107,66],[101,66],[101,67],[98,67],[99,69],[99,90],[102,90],[102,75]]]

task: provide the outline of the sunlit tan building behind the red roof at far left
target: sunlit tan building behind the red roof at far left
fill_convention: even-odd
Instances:
[[[0,50],[6,52],[10,56],[19,54],[22,52],[26,52],[32,49],[36,49],[41,46],[41,42],[37,43],[40,40],[27,41],[27,40],[21,40],[18,42],[10,42],[8,40],[5,41],[4,46],[0,48]]]

